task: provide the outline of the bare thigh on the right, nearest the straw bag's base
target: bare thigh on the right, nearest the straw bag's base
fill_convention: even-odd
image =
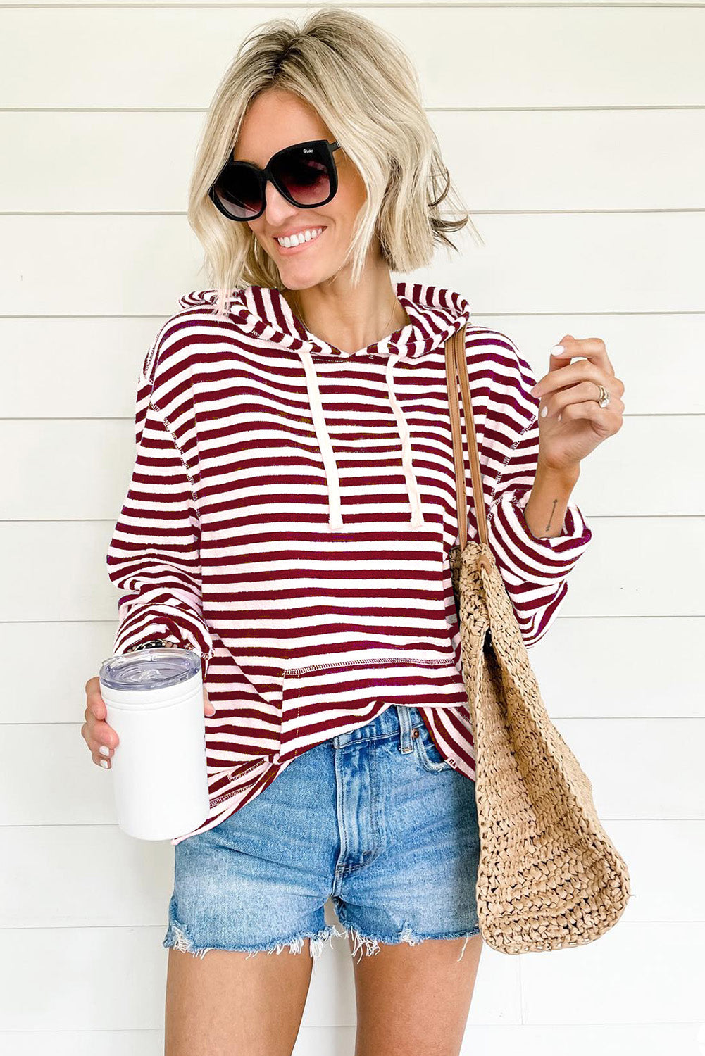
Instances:
[[[458,1056],[481,949],[476,935],[381,942],[377,953],[355,958],[355,1056]]]

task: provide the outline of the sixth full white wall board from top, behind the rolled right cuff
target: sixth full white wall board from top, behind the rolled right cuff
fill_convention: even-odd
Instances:
[[[703,518],[591,521],[562,616],[705,616]],[[0,523],[0,622],[116,619],[106,565],[113,530],[114,521]]]

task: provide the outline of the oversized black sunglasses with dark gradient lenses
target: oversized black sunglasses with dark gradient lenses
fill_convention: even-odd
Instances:
[[[273,154],[263,169],[227,159],[208,189],[208,197],[228,220],[256,220],[266,206],[266,182],[300,209],[330,202],[338,189],[333,151],[337,140],[308,139]]]

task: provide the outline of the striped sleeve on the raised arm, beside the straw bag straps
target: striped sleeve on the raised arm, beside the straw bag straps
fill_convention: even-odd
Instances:
[[[496,335],[497,336],[497,335]],[[499,335],[483,444],[494,485],[487,503],[488,542],[512,601],[524,644],[535,645],[555,620],[568,592],[568,577],[585,553],[592,531],[575,502],[565,510],[562,530],[537,539],[524,520],[539,450],[539,400],[530,392],[536,379],[513,342]],[[486,335],[484,336],[486,341]],[[484,343],[484,342],[481,342]]]

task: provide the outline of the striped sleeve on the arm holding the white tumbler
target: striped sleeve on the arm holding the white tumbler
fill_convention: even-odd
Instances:
[[[151,397],[143,367],[136,457],[106,559],[123,591],[113,652],[164,638],[197,653],[205,679],[212,639],[202,608],[200,520],[181,452]]]

